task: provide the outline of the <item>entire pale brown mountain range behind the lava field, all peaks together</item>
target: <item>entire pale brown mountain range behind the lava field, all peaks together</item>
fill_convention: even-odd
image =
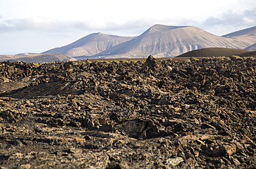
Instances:
[[[77,59],[147,57],[150,54],[154,57],[176,57],[200,48],[244,49],[254,43],[256,26],[220,37],[195,26],[156,24],[138,37],[120,37],[98,32],[67,46],[42,53],[57,52]]]

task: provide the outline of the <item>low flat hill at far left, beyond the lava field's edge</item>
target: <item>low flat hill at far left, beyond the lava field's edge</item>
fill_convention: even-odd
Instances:
[[[24,61],[30,63],[49,63],[54,61],[68,61],[71,57],[67,57],[64,54],[51,53],[51,54],[38,54],[31,57],[20,57],[10,59],[10,61]]]

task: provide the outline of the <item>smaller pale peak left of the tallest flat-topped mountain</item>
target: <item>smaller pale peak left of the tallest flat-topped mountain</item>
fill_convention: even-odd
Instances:
[[[65,54],[68,57],[77,57],[77,56],[91,56],[97,54],[104,50],[107,50],[113,46],[118,45],[119,43],[129,41],[134,37],[120,37],[116,35],[103,34],[101,32],[89,34],[86,37],[83,37],[67,46],[60,48],[53,48],[42,52],[46,53],[60,53]]]

